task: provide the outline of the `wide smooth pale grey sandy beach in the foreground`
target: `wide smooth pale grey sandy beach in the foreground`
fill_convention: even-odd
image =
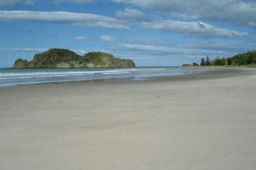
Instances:
[[[255,169],[256,69],[0,88],[0,169]]]

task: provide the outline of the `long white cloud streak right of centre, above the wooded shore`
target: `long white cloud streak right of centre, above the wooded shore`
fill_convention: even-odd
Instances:
[[[250,38],[247,32],[231,31],[204,22],[184,22],[177,20],[155,20],[141,22],[143,29],[173,32],[203,38]]]

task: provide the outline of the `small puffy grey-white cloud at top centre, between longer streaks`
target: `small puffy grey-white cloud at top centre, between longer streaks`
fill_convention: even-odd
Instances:
[[[116,11],[116,18],[132,21],[148,21],[148,17],[143,11],[125,8],[124,11]]]

